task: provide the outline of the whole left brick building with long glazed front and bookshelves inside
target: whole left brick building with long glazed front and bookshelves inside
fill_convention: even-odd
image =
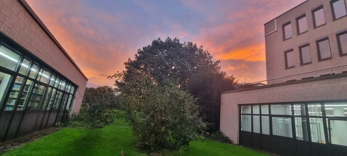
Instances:
[[[0,142],[78,113],[86,82],[25,0],[0,0]]]

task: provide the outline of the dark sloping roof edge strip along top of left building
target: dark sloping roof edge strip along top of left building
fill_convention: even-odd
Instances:
[[[75,67],[80,71],[80,73],[83,75],[83,77],[88,80],[88,78],[83,74],[82,70],[77,66],[77,64],[71,59],[71,57],[67,54],[66,50],[60,45],[58,40],[53,36],[53,34],[50,32],[50,30],[45,26],[45,24],[41,21],[41,19],[36,15],[36,13],[33,11],[33,9],[30,7],[30,5],[26,2],[26,0],[19,0],[23,4],[23,6],[29,11],[29,13],[34,17],[36,22],[41,26],[41,28],[50,36],[50,39],[54,41],[54,43],[60,48],[61,51],[65,54],[65,56],[72,62]]]

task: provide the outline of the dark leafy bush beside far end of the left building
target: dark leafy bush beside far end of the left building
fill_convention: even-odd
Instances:
[[[113,122],[112,108],[117,105],[116,90],[110,86],[86,88],[83,97],[84,108],[81,109],[77,122],[85,127],[102,127]],[[72,124],[76,124],[72,122]]]

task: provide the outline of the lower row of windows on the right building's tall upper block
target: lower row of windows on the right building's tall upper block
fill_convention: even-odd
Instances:
[[[347,55],[347,31],[336,34],[337,45],[339,48],[340,56]],[[331,59],[331,50],[329,37],[316,41],[318,61],[324,61]],[[312,63],[311,47],[310,44],[306,44],[299,47],[300,65]],[[294,49],[290,49],[284,52],[285,68],[295,67]]]

